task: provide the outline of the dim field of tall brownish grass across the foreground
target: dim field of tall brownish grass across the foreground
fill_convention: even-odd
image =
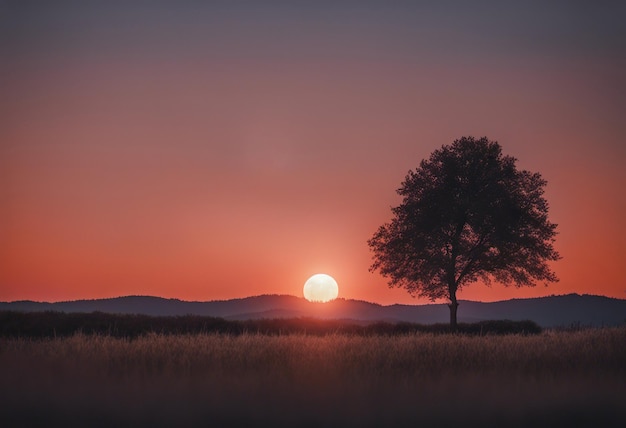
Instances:
[[[626,328],[0,339],[2,426],[626,426]]]

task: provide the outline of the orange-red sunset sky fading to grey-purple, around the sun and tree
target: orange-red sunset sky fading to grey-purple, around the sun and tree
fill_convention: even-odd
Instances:
[[[471,5],[470,5],[471,3]],[[626,298],[626,3],[0,1],[0,300],[426,304],[366,241],[433,150],[547,180],[560,281]]]

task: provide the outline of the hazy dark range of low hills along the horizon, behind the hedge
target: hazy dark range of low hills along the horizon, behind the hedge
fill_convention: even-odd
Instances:
[[[533,320],[542,327],[615,326],[626,324],[626,300],[604,296],[568,294],[500,302],[461,301],[460,322],[509,319]],[[243,299],[187,302],[151,296],[45,303],[33,301],[0,302],[0,310],[24,312],[109,312],[146,315],[206,315],[231,320],[260,318],[313,317],[359,322],[388,321],[420,324],[448,322],[445,304],[389,305],[337,299],[311,303],[303,298],[264,295]]]

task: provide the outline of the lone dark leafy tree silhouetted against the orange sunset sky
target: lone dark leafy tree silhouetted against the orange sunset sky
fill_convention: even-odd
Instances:
[[[560,256],[543,197],[546,181],[515,162],[485,137],[463,137],[435,150],[409,171],[393,219],[368,241],[370,271],[413,296],[448,298],[453,329],[456,293],[468,284],[558,281],[548,266]]]

